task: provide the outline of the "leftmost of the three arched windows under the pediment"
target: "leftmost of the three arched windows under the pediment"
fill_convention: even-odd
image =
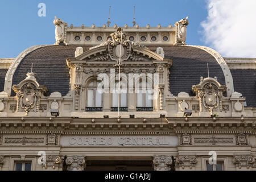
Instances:
[[[102,111],[104,89],[100,81],[92,80],[86,86],[86,111]]]

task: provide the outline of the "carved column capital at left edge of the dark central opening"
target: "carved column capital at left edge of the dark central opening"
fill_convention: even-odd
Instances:
[[[72,156],[65,160],[68,171],[84,171],[86,164],[84,157]]]

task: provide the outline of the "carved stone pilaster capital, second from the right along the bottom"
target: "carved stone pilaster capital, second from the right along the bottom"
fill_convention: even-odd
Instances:
[[[176,160],[175,160],[175,166],[176,167],[181,167],[181,168],[185,168],[185,167],[189,167],[192,169],[192,167],[195,167],[197,163],[197,159],[196,156],[177,156]]]

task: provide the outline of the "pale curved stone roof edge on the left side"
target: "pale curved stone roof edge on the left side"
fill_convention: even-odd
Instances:
[[[6,92],[8,94],[8,96],[11,96],[11,88],[12,88],[12,84],[13,84],[13,75],[16,71],[16,68],[18,68],[19,63],[22,61],[22,59],[24,57],[26,57],[26,55],[28,55],[28,53],[35,51],[36,49],[39,49],[41,47],[46,47],[46,46],[52,46],[52,45],[39,45],[39,46],[32,46],[29,47],[27,49],[25,49],[24,51],[22,51],[17,57],[16,59],[13,61],[13,63],[11,64],[10,68],[8,69],[6,76],[5,76],[5,86],[3,88],[3,91]]]

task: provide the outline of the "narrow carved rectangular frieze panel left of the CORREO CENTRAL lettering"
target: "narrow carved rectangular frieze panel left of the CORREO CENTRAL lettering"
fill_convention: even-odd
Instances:
[[[26,144],[32,144],[32,145],[38,145],[38,144],[43,144],[44,143],[44,138],[36,138],[36,137],[6,137],[4,139],[5,144],[15,144],[15,145],[26,145]]]

